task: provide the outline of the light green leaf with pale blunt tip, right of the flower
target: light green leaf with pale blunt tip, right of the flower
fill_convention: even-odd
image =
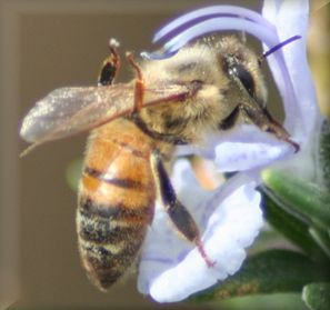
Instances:
[[[319,186],[279,170],[264,170],[262,180],[284,204],[326,231],[330,227],[330,194]]]

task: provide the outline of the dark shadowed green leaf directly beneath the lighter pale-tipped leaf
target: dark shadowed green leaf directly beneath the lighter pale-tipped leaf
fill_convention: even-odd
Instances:
[[[326,260],[323,249],[310,234],[309,224],[301,217],[296,216],[292,211],[290,212],[286,206],[273,199],[267,191],[261,191],[263,193],[262,208],[266,220],[306,253],[317,260]]]

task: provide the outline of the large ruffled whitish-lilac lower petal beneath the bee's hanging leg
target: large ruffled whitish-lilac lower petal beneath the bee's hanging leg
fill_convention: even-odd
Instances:
[[[247,180],[237,176],[216,192],[206,192],[188,161],[176,163],[174,188],[203,232],[203,247],[216,266],[207,267],[196,247],[178,237],[158,206],[142,251],[140,292],[159,302],[180,301],[240,268],[246,258],[244,248],[252,243],[262,226],[260,193],[254,190],[256,183]]]

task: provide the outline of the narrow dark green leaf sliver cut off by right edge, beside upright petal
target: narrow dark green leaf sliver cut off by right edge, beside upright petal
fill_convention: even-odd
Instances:
[[[321,127],[319,158],[324,184],[330,189],[330,119],[324,119]]]

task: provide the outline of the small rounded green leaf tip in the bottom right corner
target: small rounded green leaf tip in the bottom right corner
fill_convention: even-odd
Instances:
[[[303,288],[302,300],[311,310],[330,309],[330,282],[311,283]]]

